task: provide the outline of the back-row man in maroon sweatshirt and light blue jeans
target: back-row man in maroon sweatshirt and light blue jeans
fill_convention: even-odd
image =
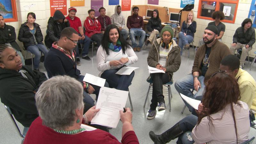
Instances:
[[[146,36],[145,31],[142,29],[144,26],[144,22],[143,18],[138,14],[139,8],[137,6],[134,6],[132,8],[132,12],[133,14],[127,19],[127,28],[129,28],[133,51],[140,52]],[[136,44],[135,36],[140,36],[139,44]]]

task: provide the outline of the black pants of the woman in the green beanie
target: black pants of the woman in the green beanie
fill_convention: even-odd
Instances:
[[[171,78],[168,73],[153,73],[150,74],[150,76],[153,79],[153,92],[150,109],[156,110],[157,102],[164,102],[163,84],[168,83]]]

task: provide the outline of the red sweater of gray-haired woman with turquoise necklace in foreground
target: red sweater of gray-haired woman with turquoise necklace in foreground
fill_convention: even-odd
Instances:
[[[126,132],[121,140],[123,144],[139,144],[134,131]],[[96,129],[77,134],[57,133],[53,129],[42,125],[41,117],[37,117],[29,127],[24,144],[99,144],[120,142],[110,133]]]

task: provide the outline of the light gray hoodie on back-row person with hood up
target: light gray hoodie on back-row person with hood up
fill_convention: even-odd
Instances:
[[[118,15],[116,9],[117,6],[115,7],[115,14],[111,15],[110,20],[112,24],[115,24],[117,27],[122,27],[124,28],[125,25],[125,19],[124,16],[122,15],[122,11],[120,12],[120,14]]]

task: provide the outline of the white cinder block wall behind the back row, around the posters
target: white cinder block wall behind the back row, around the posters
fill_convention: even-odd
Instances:
[[[122,1],[119,0],[119,4],[121,5]],[[148,0],[131,0],[131,5],[145,5],[148,3]],[[16,0],[17,4],[17,13],[18,20],[17,22],[7,22],[6,24],[12,25],[15,28],[16,35],[18,36],[19,28],[22,23],[27,20],[28,12],[34,12],[36,14],[36,23],[38,23],[41,27],[43,36],[46,35],[46,27],[47,22],[50,17],[50,1],[49,0]],[[199,0],[195,0],[194,7],[194,20],[197,23],[196,33],[195,33],[195,45],[198,46],[198,41],[203,37],[204,29],[207,27],[208,23],[211,20],[197,19],[197,11],[198,11]],[[154,5],[156,6],[156,5]],[[159,0],[158,6],[167,6],[169,8],[180,8],[179,0]],[[67,8],[70,7],[70,0],[67,0]],[[106,15],[111,16],[114,14],[115,5],[108,5],[108,0],[103,0],[103,7],[106,8]],[[88,16],[87,11],[91,9],[91,0],[85,0],[84,7],[76,7],[77,13],[76,16],[81,19],[82,25],[84,24],[84,20]],[[236,28],[241,26],[242,21],[247,18],[250,9],[250,4],[238,4],[238,9],[236,12],[236,21],[234,24],[224,23],[226,25],[226,30],[224,36],[222,37],[222,41],[230,47],[230,44],[233,42],[233,35],[235,33]],[[122,12],[125,20],[127,21],[127,17],[131,15],[131,11],[123,11]],[[127,27],[125,27],[127,29]],[[16,40],[17,43],[22,47],[20,41]],[[252,46],[252,51],[250,52],[250,57],[254,57],[254,51],[256,44]]]

